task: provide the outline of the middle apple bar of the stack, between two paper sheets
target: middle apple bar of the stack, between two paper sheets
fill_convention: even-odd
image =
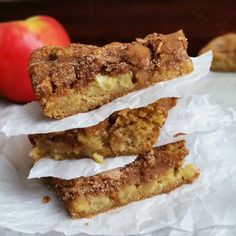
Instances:
[[[152,149],[177,98],[162,98],[147,107],[113,113],[99,124],[57,133],[29,135],[33,144],[30,156],[35,161],[45,156],[54,159],[136,155]]]

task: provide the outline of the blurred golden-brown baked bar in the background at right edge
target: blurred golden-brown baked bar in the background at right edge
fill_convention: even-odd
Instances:
[[[236,71],[236,33],[221,35],[211,40],[199,54],[212,50],[213,71]]]

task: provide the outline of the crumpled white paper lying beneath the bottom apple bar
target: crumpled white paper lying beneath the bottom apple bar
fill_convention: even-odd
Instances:
[[[8,142],[8,147],[23,150],[19,137]],[[82,220],[71,220],[52,192],[37,180],[27,180],[29,169],[24,169],[22,163],[27,163],[28,157],[3,155],[0,157],[0,227],[45,235],[53,232],[130,235],[151,231],[158,234],[170,228],[197,232],[217,225],[236,225],[235,143],[235,123],[189,135],[187,162],[194,162],[201,171],[194,184]],[[47,204],[42,203],[45,195],[51,198]]]

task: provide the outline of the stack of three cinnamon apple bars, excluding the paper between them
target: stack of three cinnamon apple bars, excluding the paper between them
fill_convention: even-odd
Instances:
[[[186,49],[182,31],[104,47],[46,46],[32,53],[29,71],[44,115],[63,119],[190,73],[193,64]],[[175,97],[162,98],[146,107],[116,111],[92,127],[29,135],[30,156],[35,162],[45,156],[58,161],[92,158],[102,165],[107,157],[137,155],[130,164],[90,177],[45,177],[73,218],[170,192],[199,175],[192,164],[183,166],[188,155],[184,141],[153,148],[176,103]]]

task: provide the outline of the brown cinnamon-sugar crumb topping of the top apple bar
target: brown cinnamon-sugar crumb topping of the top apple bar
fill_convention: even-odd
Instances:
[[[32,53],[29,72],[36,96],[44,99],[54,93],[63,94],[66,89],[86,86],[97,74],[116,76],[129,72],[138,86],[147,84],[147,77],[163,66],[168,70],[188,59],[186,48],[182,31],[169,35],[154,33],[132,43],[114,42],[104,47],[46,46]]]

